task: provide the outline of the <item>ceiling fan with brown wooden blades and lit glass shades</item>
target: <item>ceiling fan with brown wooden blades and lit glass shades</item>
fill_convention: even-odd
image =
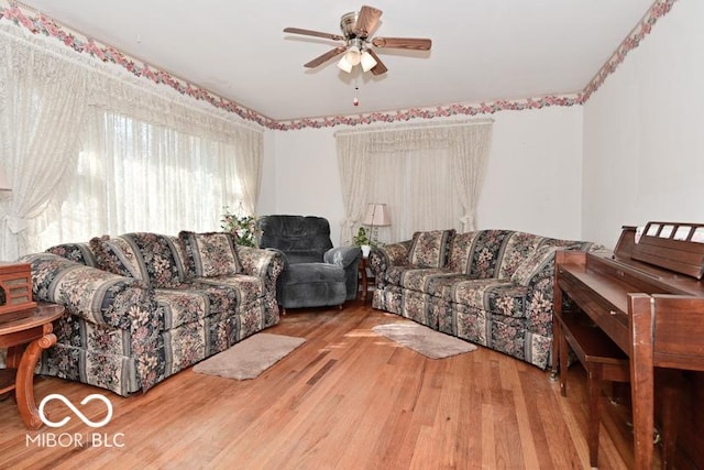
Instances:
[[[346,73],[352,72],[352,67],[361,65],[364,72],[372,72],[374,75],[386,73],[387,68],[378,58],[374,50],[378,48],[405,48],[413,51],[430,51],[432,41],[419,37],[370,37],[372,31],[376,26],[378,19],[382,17],[382,10],[374,7],[364,6],[360,11],[345,13],[340,19],[340,30],[342,35],[321,33],[319,31],[301,30],[300,28],[286,28],[285,33],[302,34],[307,36],[324,37],[332,41],[344,41],[344,45],[340,45],[327,53],[304,64],[304,67],[315,68],[324,64],[340,54],[344,55],[340,58],[338,67]]]

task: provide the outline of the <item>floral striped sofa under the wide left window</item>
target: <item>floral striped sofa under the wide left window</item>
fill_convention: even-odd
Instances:
[[[36,300],[62,304],[41,372],[123,396],[278,323],[279,253],[230,233],[140,232],[21,259]]]

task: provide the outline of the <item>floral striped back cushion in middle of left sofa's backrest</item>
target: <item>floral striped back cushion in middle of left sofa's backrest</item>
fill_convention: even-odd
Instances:
[[[184,266],[176,255],[175,239],[151,232],[96,237],[90,240],[98,267],[130,276],[157,288],[184,281]]]

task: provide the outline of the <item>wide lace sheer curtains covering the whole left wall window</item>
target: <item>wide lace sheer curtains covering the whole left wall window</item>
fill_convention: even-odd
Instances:
[[[2,259],[102,233],[219,230],[253,212],[263,133],[205,102],[0,25]]]

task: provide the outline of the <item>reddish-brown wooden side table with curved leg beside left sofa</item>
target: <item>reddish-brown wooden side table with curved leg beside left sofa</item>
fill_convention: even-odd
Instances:
[[[64,307],[38,304],[31,310],[0,316],[0,348],[8,348],[7,369],[0,370],[0,395],[14,391],[24,425],[38,429],[42,420],[34,401],[34,368],[42,350],[56,343],[52,321],[64,315]]]

